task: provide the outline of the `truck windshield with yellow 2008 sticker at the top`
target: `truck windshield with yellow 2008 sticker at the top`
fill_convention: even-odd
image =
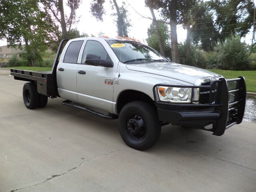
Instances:
[[[168,62],[160,53],[139,42],[130,40],[106,40],[106,42],[122,63]]]

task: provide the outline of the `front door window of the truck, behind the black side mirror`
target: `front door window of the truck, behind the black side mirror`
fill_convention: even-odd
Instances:
[[[98,42],[98,41],[88,40],[86,42],[86,45],[84,47],[83,56],[82,56],[82,63],[84,63],[85,56],[88,53],[100,56],[100,59],[106,59],[107,58],[106,50],[104,49],[102,44],[100,44],[100,42]]]

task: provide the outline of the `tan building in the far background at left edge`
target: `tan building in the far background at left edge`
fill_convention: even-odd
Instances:
[[[20,57],[20,54],[24,52],[24,47],[25,45],[22,45],[22,50],[20,50],[19,48],[0,46],[0,62],[8,62],[13,55]]]

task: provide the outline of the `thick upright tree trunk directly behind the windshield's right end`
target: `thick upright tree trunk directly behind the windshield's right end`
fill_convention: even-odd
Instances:
[[[171,51],[172,51],[172,61],[175,63],[180,63],[179,50],[178,50],[178,39],[177,39],[177,21],[175,18],[170,19],[171,27]]]

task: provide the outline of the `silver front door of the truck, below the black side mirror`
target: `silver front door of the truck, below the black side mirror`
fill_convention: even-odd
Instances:
[[[100,40],[87,40],[83,48],[81,62],[77,68],[77,96],[80,104],[112,113],[113,80],[118,62],[112,60],[113,68],[85,64],[86,54],[93,54],[100,56],[100,59],[111,60],[110,55],[114,52],[109,55],[106,49],[111,50],[111,48],[104,39]]]

